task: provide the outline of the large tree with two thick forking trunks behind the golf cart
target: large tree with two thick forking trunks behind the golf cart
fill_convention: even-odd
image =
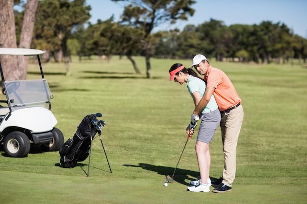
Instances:
[[[20,48],[30,48],[37,4],[38,0],[27,0],[26,2],[25,14],[19,41]],[[17,47],[13,5],[14,0],[0,1],[0,47]],[[3,70],[3,74],[5,75],[6,79],[26,79],[28,64],[27,60],[28,58],[24,56],[1,56],[1,63],[3,67],[10,67],[10,69]]]

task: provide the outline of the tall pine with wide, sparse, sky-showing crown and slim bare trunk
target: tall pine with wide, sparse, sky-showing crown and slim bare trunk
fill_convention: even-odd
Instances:
[[[123,1],[126,3],[122,23],[127,23],[135,28],[144,31],[142,36],[142,49],[144,50],[146,61],[147,78],[151,76],[151,32],[154,27],[170,22],[175,23],[176,20],[187,20],[187,15],[193,16],[194,9],[190,6],[196,1],[194,0],[112,0]]]

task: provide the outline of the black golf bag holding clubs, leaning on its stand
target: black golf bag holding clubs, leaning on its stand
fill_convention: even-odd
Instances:
[[[60,167],[74,168],[78,161],[84,161],[90,152],[91,137],[101,135],[104,121],[97,120],[101,113],[90,114],[83,118],[73,138],[69,138],[60,148]]]

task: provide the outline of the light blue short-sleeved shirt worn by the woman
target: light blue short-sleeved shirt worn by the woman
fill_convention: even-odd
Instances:
[[[205,82],[203,80],[197,78],[197,77],[192,76],[192,75],[189,76],[186,87],[188,88],[192,98],[193,98],[192,93],[194,93],[196,91],[198,91],[200,93],[201,97],[203,97],[205,90],[206,90]],[[206,107],[203,109],[202,113],[210,113],[210,112],[213,112],[214,110],[216,110],[217,108],[218,108],[218,105],[217,105],[215,98],[212,94],[210,101],[208,102]]]

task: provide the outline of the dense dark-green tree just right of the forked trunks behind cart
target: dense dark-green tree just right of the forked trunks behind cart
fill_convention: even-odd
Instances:
[[[38,4],[36,39],[47,39],[51,44],[49,48],[55,49],[51,52],[60,52],[60,60],[65,62],[67,75],[70,74],[67,41],[90,18],[90,10],[90,6],[85,6],[85,0],[46,0]],[[59,44],[60,50],[58,46],[52,47],[53,43]]]

